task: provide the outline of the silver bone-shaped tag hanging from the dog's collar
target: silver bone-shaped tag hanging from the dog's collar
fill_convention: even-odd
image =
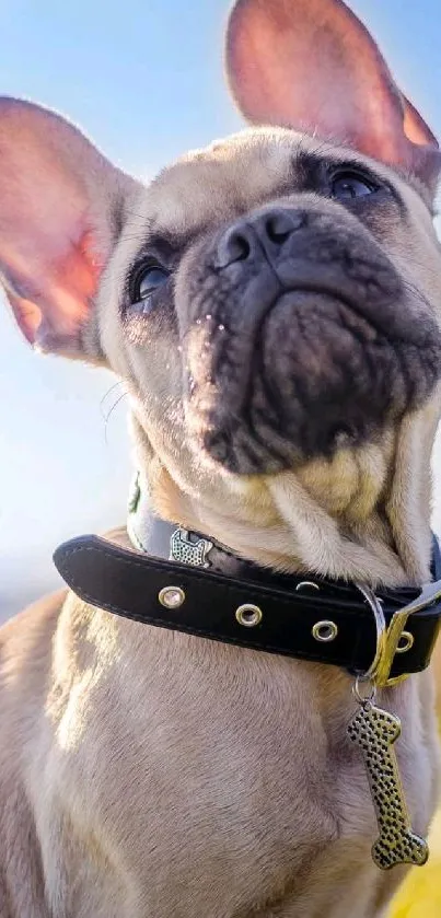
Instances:
[[[421,865],[429,849],[411,830],[398,763],[393,744],[402,732],[397,717],[365,700],[352,718],[348,733],[360,747],[368,771],[380,836],[372,858],[382,870],[399,863]]]

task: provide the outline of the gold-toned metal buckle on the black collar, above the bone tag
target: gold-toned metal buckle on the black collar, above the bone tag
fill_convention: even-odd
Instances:
[[[420,612],[421,609],[427,608],[427,606],[432,605],[436,600],[441,599],[441,580],[437,580],[436,583],[425,583],[421,588],[419,596],[393,615],[388,628],[381,607],[381,602],[378,596],[375,596],[373,590],[364,583],[356,583],[356,586],[360,590],[360,593],[362,593],[369,603],[374,615],[376,628],[375,655],[369,670],[360,676],[360,681],[371,682],[378,688],[396,685],[409,675],[408,673],[394,677],[391,677],[390,675],[394,656],[397,652],[398,643],[403,636],[403,631],[405,630],[407,619],[409,615],[414,614],[414,612]]]

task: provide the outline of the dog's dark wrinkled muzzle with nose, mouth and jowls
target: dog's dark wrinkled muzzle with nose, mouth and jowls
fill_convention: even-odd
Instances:
[[[233,472],[357,445],[439,377],[438,327],[416,321],[418,294],[353,220],[266,208],[224,230],[196,275],[187,415],[202,450]]]

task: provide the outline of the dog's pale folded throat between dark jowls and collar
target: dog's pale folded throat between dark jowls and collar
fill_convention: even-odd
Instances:
[[[194,468],[189,452],[179,462],[170,452],[161,461],[162,444],[150,445],[148,419],[139,408],[131,422],[137,465],[151,497],[140,523],[144,537],[153,510],[175,527],[200,533],[279,572],[358,580],[373,589],[418,585],[430,578],[434,405],[431,412],[416,412],[411,422],[403,420],[383,460],[381,444],[362,451],[362,467],[352,477],[365,486],[370,501],[360,503],[359,488],[339,511],[329,501],[336,502],[348,487],[349,460],[341,467],[344,456],[323,462],[318,472],[310,463],[292,473],[242,480],[202,464]],[[182,466],[187,469],[184,478]]]

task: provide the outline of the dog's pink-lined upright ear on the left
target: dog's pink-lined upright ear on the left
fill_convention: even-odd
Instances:
[[[80,356],[126,183],[59,115],[0,98],[0,281],[43,350]]]

